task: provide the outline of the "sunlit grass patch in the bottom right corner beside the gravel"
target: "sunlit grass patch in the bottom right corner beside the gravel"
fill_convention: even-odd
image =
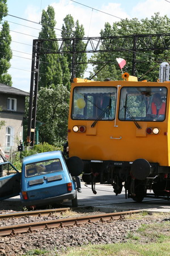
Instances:
[[[68,250],[66,256],[169,256],[170,255],[170,221],[154,224],[142,224],[137,232],[129,232],[126,243],[108,245],[87,245]]]

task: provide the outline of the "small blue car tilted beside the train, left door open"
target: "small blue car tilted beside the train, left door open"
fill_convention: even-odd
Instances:
[[[72,200],[73,207],[77,207],[76,184],[61,151],[27,156],[23,159],[22,172],[13,171],[15,174],[0,178],[0,200],[20,195],[26,207],[35,208],[67,200]]]

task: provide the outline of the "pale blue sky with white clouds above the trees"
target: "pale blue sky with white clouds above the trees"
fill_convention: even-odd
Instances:
[[[12,86],[25,92],[29,92],[31,81],[32,40],[39,36],[41,12],[48,5],[53,6],[56,13],[57,38],[61,37],[63,18],[67,14],[83,24],[87,37],[100,36],[105,22],[112,25],[125,18],[141,20],[158,12],[170,17],[170,0],[7,0],[8,15],[3,20],[10,25],[13,53],[8,73],[12,76]],[[87,73],[89,71],[90,68]]]

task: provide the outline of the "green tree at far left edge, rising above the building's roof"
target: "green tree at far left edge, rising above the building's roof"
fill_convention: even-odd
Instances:
[[[2,24],[0,31],[0,82],[11,86],[12,78],[7,73],[11,67],[10,60],[12,58],[10,28],[8,22],[2,22],[3,17],[7,16],[8,9],[6,2],[7,0],[0,0],[0,23]]]

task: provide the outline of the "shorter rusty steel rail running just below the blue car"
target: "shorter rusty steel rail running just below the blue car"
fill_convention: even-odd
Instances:
[[[24,216],[46,216],[46,215],[52,215],[54,213],[61,213],[66,212],[67,210],[70,210],[70,207],[67,208],[58,208],[58,209],[47,209],[47,210],[32,210],[32,211],[25,211],[25,212],[14,212],[14,213],[5,213],[0,214],[0,220],[5,218],[20,218]]]

